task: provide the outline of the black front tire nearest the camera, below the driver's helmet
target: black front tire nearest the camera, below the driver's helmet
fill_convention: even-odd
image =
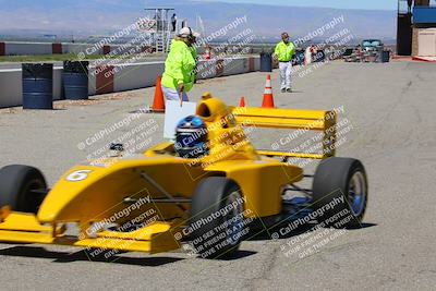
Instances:
[[[244,201],[240,186],[225,177],[202,180],[192,196],[187,227],[191,246],[203,258],[238,252],[244,237]]]

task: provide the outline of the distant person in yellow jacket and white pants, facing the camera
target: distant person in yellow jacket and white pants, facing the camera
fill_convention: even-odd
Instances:
[[[279,61],[281,82],[280,89],[282,93],[291,93],[292,57],[295,54],[295,46],[289,41],[288,33],[282,33],[281,39],[282,41],[276,46],[274,57]]]

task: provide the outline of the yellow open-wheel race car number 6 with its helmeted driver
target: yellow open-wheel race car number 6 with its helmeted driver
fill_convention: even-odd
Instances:
[[[235,108],[205,94],[196,114],[178,124],[174,142],[125,157],[122,145],[112,145],[112,157],[70,169],[52,189],[36,168],[2,168],[0,242],[72,245],[105,256],[187,245],[217,258],[283,221],[359,226],[366,174],[359,160],[334,157],[336,122],[336,111]],[[315,131],[320,150],[256,150],[245,132],[253,128]],[[290,158],[322,161],[310,175]],[[303,179],[313,179],[313,189],[298,186]],[[286,198],[289,191],[302,195]]]

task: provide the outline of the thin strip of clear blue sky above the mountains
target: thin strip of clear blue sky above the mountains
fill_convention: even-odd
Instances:
[[[223,2],[277,5],[328,7],[342,9],[397,10],[397,0],[218,0]]]

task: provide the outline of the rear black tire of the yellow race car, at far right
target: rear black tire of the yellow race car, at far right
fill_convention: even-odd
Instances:
[[[314,175],[313,198],[318,223],[335,228],[360,227],[368,198],[362,162],[338,157],[322,161]]]

